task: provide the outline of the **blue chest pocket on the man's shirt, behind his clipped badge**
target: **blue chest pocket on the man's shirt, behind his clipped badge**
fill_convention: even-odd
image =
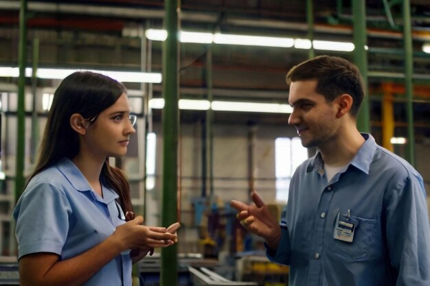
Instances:
[[[363,261],[374,258],[376,253],[382,252],[381,248],[377,246],[378,239],[376,239],[378,221],[376,219],[363,219],[361,217],[352,218],[358,222],[357,228],[354,229],[353,241],[348,242],[335,239],[333,237],[333,227],[331,229],[330,242],[328,243],[330,252],[332,252],[332,255],[348,261]]]

